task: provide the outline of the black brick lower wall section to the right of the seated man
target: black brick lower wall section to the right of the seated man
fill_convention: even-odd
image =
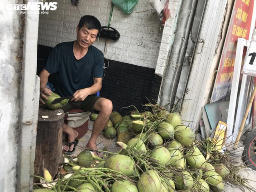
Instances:
[[[159,89],[154,87],[159,87],[161,80],[155,77],[154,69],[114,60],[108,62],[110,65],[106,68],[100,95],[112,101],[115,111],[125,115],[134,110],[133,107],[126,108],[130,105],[143,110],[142,104],[157,100]],[[153,86],[154,82],[158,83]]]

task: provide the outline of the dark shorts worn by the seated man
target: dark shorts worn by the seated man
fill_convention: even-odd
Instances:
[[[86,97],[84,101],[79,101],[79,102],[68,101],[68,103],[62,106],[61,109],[64,110],[65,113],[72,109],[82,109],[82,110],[90,111],[94,113],[95,110],[93,109],[93,106],[96,103],[96,101],[100,98],[103,98],[103,97],[92,95],[92,96]]]

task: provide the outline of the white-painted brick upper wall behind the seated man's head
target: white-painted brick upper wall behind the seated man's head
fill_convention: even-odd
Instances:
[[[58,0],[58,9],[40,14],[38,44],[54,47],[56,44],[76,39],[76,26],[80,14],[96,16],[106,26],[110,12],[110,0],[83,0],[78,8],[70,0]],[[150,10],[149,0],[140,0],[133,12]],[[125,15],[114,7],[111,26],[120,32],[117,42],[108,40],[105,57],[111,60],[156,68],[162,39],[161,22],[155,10]],[[105,39],[94,46],[104,51]]]

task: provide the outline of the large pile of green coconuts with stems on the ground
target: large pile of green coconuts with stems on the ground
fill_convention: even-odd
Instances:
[[[117,136],[121,150],[104,151],[103,157],[84,150],[64,164],[66,173],[51,189],[34,191],[221,192],[230,174],[224,164],[206,160],[178,112],[112,112],[104,136]]]

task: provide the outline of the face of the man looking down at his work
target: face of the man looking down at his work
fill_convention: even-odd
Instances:
[[[88,48],[96,40],[98,30],[97,29],[88,29],[86,26],[83,26],[79,30],[79,28],[77,26],[76,33],[77,33],[76,40],[77,40],[78,44],[82,48]]]

